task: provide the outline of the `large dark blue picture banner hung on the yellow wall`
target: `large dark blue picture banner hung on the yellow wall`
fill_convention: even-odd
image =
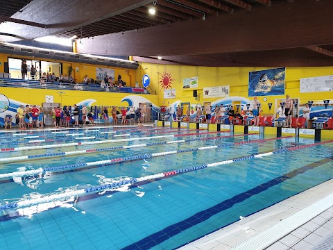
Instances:
[[[248,97],[284,95],[286,68],[248,72]]]

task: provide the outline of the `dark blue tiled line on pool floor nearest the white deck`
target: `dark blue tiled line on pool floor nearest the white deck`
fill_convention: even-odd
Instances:
[[[298,174],[307,172],[307,170],[309,169],[314,169],[315,167],[319,167],[320,165],[330,162],[332,160],[333,156],[330,158],[324,158],[323,160],[318,160],[316,163],[311,163],[309,165],[295,169],[292,172],[289,172],[282,176],[278,176],[277,178],[273,178],[273,180],[271,181],[267,181],[266,183],[257,185],[257,187],[255,188],[247,190],[246,192],[242,192],[241,194],[237,194],[230,199],[227,199],[225,201],[222,201],[221,203],[216,204],[215,206],[212,206],[211,208],[202,210],[196,213],[195,215],[188,217],[187,219],[177,222],[176,224],[173,224],[171,226],[168,226],[167,228],[164,228],[161,231],[153,233],[152,235],[149,235],[146,238],[139,240],[138,242],[135,242],[133,244],[128,245],[127,247],[124,247],[122,250],[151,249],[152,247],[157,246],[158,244],[164,242],[165,240],[168,240],[169,238],[178,235],[178,233],[182,233],[182,231],[185,231],[191,228],[192,226],[200,224],[201,222],[205,222],[205,220],[210,219],[210,217],[218,213],[221,213],[222,211],[227,210],[228,208],[232,208],[232,206],[234,206],[235,204],[241,203],[242,201],[245,201],[246,199],[252,197],[255,194],[264,192],[265,190],[268,190],[268,188],[278,185],[284,181],[289,180],[290,178],[298,176]]]

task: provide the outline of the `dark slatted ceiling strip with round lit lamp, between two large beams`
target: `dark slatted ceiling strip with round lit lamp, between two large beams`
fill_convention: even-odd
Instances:
[[[210,19],[244,10],[250,11],[253,8],[271,6],[279,1],[287,4],[293,0],[157,0],[99,22],[58,33],[57,36],[70,38],[77,35],[78,38],[89,38],[110,33],[137,31],[152,26]],[[148,9],[152,7],[156,10],[155,15],[148,12]]]

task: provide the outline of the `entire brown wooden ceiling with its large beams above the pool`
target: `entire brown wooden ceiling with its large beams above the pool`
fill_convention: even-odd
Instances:
[[[62,0],[61,4],[0,0],[0,4],[5,6],[0,8],[0,22],[7,21],[0,24],[0,40],[5,42],[76,35],[81,53],[134,56],[150,63],[333,65],[332,0]],[[151,7],[155,15],[148,13]]]

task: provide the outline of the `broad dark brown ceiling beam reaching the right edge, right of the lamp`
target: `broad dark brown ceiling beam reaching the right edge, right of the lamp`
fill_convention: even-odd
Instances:
[[[172,56],[333,44],[332,9],[333,1],[302,0],[293,4],[277,1],[274,8],[259,6],[246,15],[237,11],[207,18],[205,22],[197,19],[142,28],[124,35],[101,35],[92,44],[84,42],[85,46],[78,47],[78,51],[119,56]],[[279,22],[271,18],[276,13],[279,13]],[[264,38],[263,31],[266,31]],[[293,35],[286,39],[287,34]]]

